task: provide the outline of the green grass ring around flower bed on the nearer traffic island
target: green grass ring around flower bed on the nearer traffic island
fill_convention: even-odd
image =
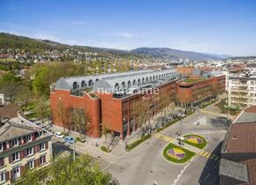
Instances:
[[[183,159],[175,159],[175,158],[170,157],[167,152],[169,151],[169,149],[172,149],[172,148],[177,148],[177,149],[182,150],[185,153],[184,158]],[[195,155],[194,152],[188,151],[188,150],[186,150],[182,147],[179,147],[175,144],[168,144],[162,153],[163,153],[163,156],[165,159],[168,159],[169,161],[174,162],[174,163],[184,163],[184,162],[188,161],[189,159],[192,159],[192,157]]]

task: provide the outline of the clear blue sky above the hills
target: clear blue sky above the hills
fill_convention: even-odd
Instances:
[[[0,32],[71,45],[256,55],[256,0],[0,0]]]

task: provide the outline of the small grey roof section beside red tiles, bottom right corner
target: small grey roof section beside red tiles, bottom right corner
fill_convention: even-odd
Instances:
[[[221,159],[219,174],[238,181],[249,181],[246,165],[228,159]]]

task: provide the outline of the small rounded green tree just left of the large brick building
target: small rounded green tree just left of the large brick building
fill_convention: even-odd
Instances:
[[[36,101],[36,106],[34,108],[35,114],[41,119],[41,123],[44,123],[44,119],[49,117],[49,100],[45,96],[41,96],[39,100]]]

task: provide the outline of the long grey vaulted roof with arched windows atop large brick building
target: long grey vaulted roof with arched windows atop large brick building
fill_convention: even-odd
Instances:
[[[79,88],[93,87],[93,89],[111,88],[115,90],[115,85],[119,85],[120,89],[130,86],[131,83],[136,80],[136,85],[132,84],[132,87],[138,86],[138,82],[146,84],[146,80],[150,82],[159,78],[169,78],[171,76],[177,76],[177,70],[130,70],[125,72],[109,73],[95,76],[82,76],[74,78],[60,78],[56,82],[56,89],[74,90]],[[139,81],[138,81],[139,80]],[[144,80],[144,83],[143,83]],[[130,81],[130,82],[129,82]],[[129,84],[128,84],[129,82]],[[120,84],[119,84],[120,83]],[[123,83],[123,85],[122,85]],[[111,90],[111,92],[112,92]]]

